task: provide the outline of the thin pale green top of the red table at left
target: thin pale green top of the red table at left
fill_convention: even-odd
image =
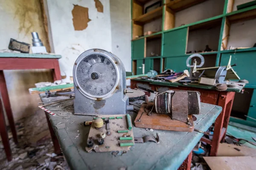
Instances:
[[[27,53],[0,53],[1,57],[8,58],[50,58],[50,59],[59,59],[61,55],[52,55],[52,54],[27,54]]]

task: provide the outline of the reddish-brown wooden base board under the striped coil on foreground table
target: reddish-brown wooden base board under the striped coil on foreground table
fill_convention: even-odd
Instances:
[[[153,105],[153,103],[148,103],[148,105]],[[143,104],[134,120],[135,127],[159,129],[159,130],[173,130],[182,132],[192,132],[194,130],[194,122],[192,115],[189,115],[189,122],[191,125],[185,122],[180,122],[178,120],[172,120],[168,115],[160,115],[154,113],[148,116],[144,111],[146,104]],[[150,110],[150,109],[149,109]],[[140,119],[140,122],[138,121]]]

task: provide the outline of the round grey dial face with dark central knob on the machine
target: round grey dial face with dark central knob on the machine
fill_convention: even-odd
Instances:
[[[88,94],[101,97],[108,94],[116,84],[116,68],[100,54],[90,54],[77,67],[77,81]]]

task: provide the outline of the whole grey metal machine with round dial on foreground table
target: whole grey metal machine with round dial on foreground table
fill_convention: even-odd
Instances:
[[[79,115],[125,114],[125,67],[111,52],[84,51],[73,68],[74,111]]]

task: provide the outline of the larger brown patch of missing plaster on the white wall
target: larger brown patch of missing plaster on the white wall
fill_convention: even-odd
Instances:
[[[79,5],[74,5],[72,10],[73,15],[73,26],[76,31],[81,31],[87,28],[88,22],[91,20],[89,19],[88,14],[89,8],[85,8]]]

